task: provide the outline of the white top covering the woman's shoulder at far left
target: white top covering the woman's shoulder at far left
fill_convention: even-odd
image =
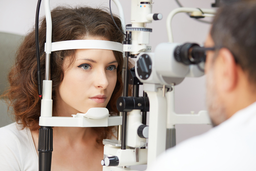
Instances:
[[[0,128],[0,165],[6,170],[38,168],[38,156],[30,130],[15,123]]]

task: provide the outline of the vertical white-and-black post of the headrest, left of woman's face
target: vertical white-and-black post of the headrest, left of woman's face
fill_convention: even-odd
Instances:
[[[46,72],[42,84],[41,116],[52,117],[52,81],[51,73],[51,52],[52,52],[52,17],[50,0],[45,0],[46,12]],[[39,118],[40,119],[40,118]],[[42,125],[38,136],[38,163],[39,171],[50,171],[53,151],[53,131],[51,126]]]

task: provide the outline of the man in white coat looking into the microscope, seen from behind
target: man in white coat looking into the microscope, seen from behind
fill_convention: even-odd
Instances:
[[[256,170],[256,2],[223,5],[205,47],[208,112],[217,125],[148,170]]]

